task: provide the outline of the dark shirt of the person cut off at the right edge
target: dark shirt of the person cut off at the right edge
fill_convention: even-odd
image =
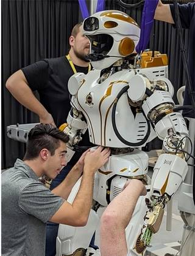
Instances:
[[[179,4],[179,13],[182,28],[189,29],[188,39],[188,66],[190,68],[191,82],[193,90],[195,90],[195,3],[189,2],[188,4]],[[176,12],[174,6],[171,4],[171,13],[174,21],[176,20]],[[188,92],[185,92],[183,105],[191,105],[191,99]],[[183,113],[185,116],[195,118],[194,111],[190,113]]]

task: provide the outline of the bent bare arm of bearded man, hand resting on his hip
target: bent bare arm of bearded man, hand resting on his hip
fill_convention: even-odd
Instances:
[[[5,87],[24,107],[28,108],[40,118],[43,124],[52,124],[55,126],[54,119],[48,113],[46,108],[38,101],[30,89],[26,77],[22,70],[18,70],[6,81]]]

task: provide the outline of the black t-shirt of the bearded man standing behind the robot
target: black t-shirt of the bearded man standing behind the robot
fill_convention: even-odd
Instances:
[[[74,65],[77,72],[87,74],[88,67]],[[71,109],[68,91],[68,80],[74,75],[73,69],[65,56],[54,59],[43,59],[21,69],[32,91],[38,91],[40,102],[54,118],[57,127],[66,122]],[[83,135],[79,146],[93,146],[90,143],[88,130]],[[71,160],[75,163],[80,154]]]

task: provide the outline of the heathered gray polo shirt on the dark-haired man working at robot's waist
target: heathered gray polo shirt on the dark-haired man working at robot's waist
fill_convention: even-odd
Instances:
[[[2,255],[44,256],[46,222],[63,203],[34,171],[17,159],[2,181]]]

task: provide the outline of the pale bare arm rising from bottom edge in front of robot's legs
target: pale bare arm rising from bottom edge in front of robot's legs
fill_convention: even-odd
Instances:
[[[101,256],[127,255],[125,229],[140,195],[146,195],[146,187],[138,179],[132,179],[105,209],[101,217]]]

